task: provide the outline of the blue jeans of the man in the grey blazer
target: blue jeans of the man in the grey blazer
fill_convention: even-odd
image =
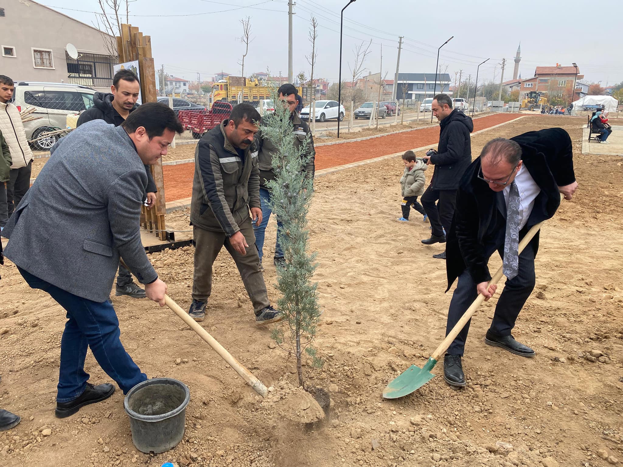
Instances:
[[[60,340],[60,370],[57,402],[69,402],[80,396],[89,375],[84,370],[87,347],[123,394],[147,379],[132,361],[119,340],[119,321],[110,300],[103,303],[87,300],[58,288],[22,268],[21,275],[31,288],[50,294],[67,311],[69,321]]]

